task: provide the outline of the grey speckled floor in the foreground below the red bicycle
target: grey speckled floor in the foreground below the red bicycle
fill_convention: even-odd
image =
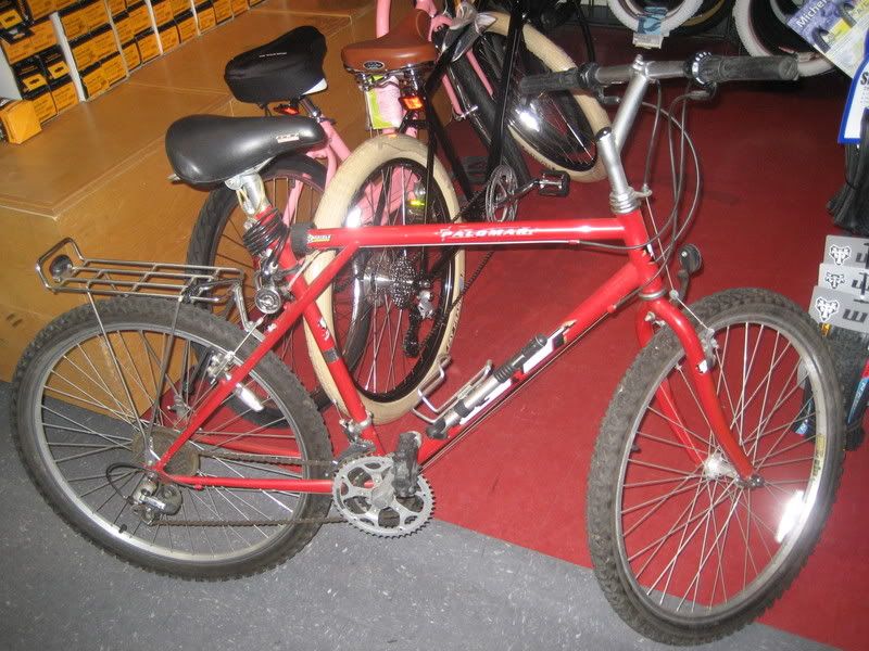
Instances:
[[[0,383],[0,649],[664,649],[624,625],[590,570],[434,521],[382,540],[324,526],[288,563],[200,584],[109,558],[29,484]],[[706,649],[817,650],[753,625]]]

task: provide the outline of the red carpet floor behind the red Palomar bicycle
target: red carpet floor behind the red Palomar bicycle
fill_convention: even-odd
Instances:
[[[692,108],[704,191],[688,240],[701,247],[705,266],[690,299],[761,286],[807,306],[823,238],[835,232],[824,206],[843,182],[835,138],[845,93],[833,76],[785,89],[731,85],[711,105]],[[643,155],[638,141],[630,150],[631,178],[638,178]],[[658,179],[658,188],[668,182]],[[575,186],[567,200],[529,197],[520,218],[603,216],[606,193],[605,186]],[[664,194],[658,203],[664,210]],[[467,273],[478,259],[479,253],[469,255]],[[451,378],[467,379],[488,358],[503,361],[534,333],[551,331],[620,264],[617,255],[588,251],[498,253],[465,301]],[[590,564],[585,474],[600,421],[638,352],[633,309],[599,327],[427,471],[438,518]],[[408,418],[386,431],[390,437],[420,425]],[[764,623],[843,649],[867,648],[869,529],[861,502],[868,494],[869,450],[860,449],[846,460],[815,554]]]

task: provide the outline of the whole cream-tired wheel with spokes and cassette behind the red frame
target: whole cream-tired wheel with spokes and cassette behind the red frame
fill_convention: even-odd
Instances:
[[[406,136],[366,141],[326,189],[317,227],[451,222],[458,213],[455,191],[436,158],[425,195],[426,161],[426,145]],[[308,282],[332,257],[314,257]],[[464,270],[461,250],[366,248],[317,299],[375,422],[406,413],[418,401],[419,386],[437,373],[458,326]],[[345,411],[322,353],[305,333],[320,385]]]

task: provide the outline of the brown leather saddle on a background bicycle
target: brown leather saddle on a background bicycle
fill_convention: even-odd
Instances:
[[[430,25],[431,17],[415,9],[386,36],[341,50],[341,59],[348,69],[367,74],[430,63],[438,58],[428,40]]]

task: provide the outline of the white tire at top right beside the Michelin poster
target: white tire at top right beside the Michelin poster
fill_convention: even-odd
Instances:
[[[774,9],[772,2],[778,3]],[[777,15],[791,16],[797,9],[790,0],[736,0],[733,20],[740,40],[753,56],[796,54],[803,77],[828,73],[833,65]]]

